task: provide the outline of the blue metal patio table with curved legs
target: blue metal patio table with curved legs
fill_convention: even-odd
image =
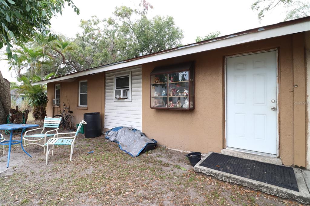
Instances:
[[[0,143],[1,145],[9,145],[9,152],[7,154],[7,167],[9,167],[9,163],[10,163],[10,154],[11,154],[11,145],[12,144],[20,144],[23,151],[29,157],[31,157],[31,155],[29,155],[28,152],[26,152],[24,147],[23,147],[23,133],[26,130],[26,128],[38,127],[38,126],[39,126],[38,124],[1,124],[0,125],[0,130],[11,130],[10,140],[3,141]],[[12,140],[13,131],[17,130],[17,129],[23,129],[23,131],[21,131],[20,140]]]

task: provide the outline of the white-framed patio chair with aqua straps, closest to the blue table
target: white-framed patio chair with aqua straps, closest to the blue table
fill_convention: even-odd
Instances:
[[[61,121],[61,117],[60,118],[45,117],[44,118],[43,127],[36,128],[36,129],[33,129],[33,130],[28,130],[28,131],[25,132],[25,134],[23,136],[24,146],[27,146],[29,144],[36,144],[36,145],[39,145],[39,146],[43,147],[44,148],[43,153],[45,153],[46,138],[54,136],[54,135],[58,135],[60,121]],[[49,131],[46,131],[45,133],[43,133],[46,128],[56,128],[56,129],[49,130]],[[28,132],[39,130],[39,129],[42,129],[41,133],[27,135]],[[56,134],[55,134],[55,132],[50,133],[52,131],[56,131]],[[42,143],[41,144],[38,144],[38,143],[28,143],[28,144],[26,144],[26,141],[36,142],[36,141],[41,141],[42,139],[44,139],[44,144],[42,144]]]

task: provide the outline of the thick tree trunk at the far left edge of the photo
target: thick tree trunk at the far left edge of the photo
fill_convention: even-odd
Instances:
[[[11,109],[11,92],[10,82],[2,77],[0,71],[0,122],[1,124],[7,123],[7,115]]]

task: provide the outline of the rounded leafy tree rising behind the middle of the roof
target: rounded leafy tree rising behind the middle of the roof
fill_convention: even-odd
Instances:
[[[108,28],[116,32],[115,45],[121,59],[152,54],[181,45],[183,32],[175,26],[172,16],[147,18],[148,9],[153,9],[143,0],[139,10],[127,6],[116,7],[107,20]],[[138,16],[139,18],[135,18]]]

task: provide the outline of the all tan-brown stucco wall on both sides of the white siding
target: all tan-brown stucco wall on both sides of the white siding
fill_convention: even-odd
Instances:
[[[279,55],[279,156],[285,165],[306,166],[304,33],[251,42],[142,65],[142,130],[151,139],[170,148],[220,152],[225,147],[224,58],[268,49]],[[301,60],[303,59],[303,60]],[[154,67],[195,61],[195,109],[192,111],[149,108],[149,74]],[[78,108],[78,81],[88,80],[88,107]],[[48,116],[52,115],[54,85],[48,84]],[[61,103],[69,100],[74,123],[86,112],[104,114],[104,73],[62,82]],[[298,84],[294,88],[294,84]]]

